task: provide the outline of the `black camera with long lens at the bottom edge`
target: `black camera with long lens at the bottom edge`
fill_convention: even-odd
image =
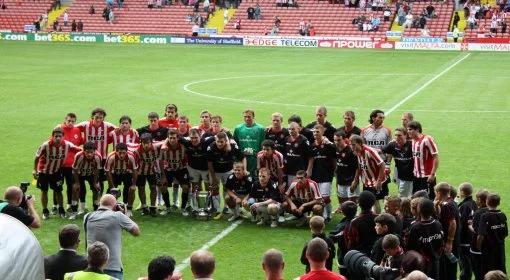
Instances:
[[[381,267],[365,254],[356,250],[345,254],[344,265],[353,279],[393,280],[400,275],[398,269]]]

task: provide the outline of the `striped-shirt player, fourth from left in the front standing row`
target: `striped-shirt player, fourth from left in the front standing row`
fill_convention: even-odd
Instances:
[[[138,177],[136,186],[138,187],[138,197],[142,203],[142,215],[156,215],[156,197],[157,182],[161,178],[161,169],[159,166],[158,146],[161,144],[152,143],[150,133],[142,134],[141,145],[134,150],[136,160],[138,161]],[[150,211],[147,209],[147,197],[145,195],[145,183],[149,184],[150,189]]]

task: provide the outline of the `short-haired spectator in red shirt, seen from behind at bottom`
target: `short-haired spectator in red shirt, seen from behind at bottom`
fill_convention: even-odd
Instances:
[[[314,238],[308,242],[305,253],[308,262],[310,263],[310,272],[301,275],[299,279],[302,280],[346,280],[345,277],[331,272],[326,269],[326,260],[329,256],[328,244],[321,238]]]

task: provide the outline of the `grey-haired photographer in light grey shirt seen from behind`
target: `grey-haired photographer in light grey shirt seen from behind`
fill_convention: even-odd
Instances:
[[[117,209],[117,200],[111,194],[101,197],[97,211],[84,217],[87,244],[95,241],[104,242],[110,249],[110,259],[104,272],[112,277],[123,279],[121,262],[122,229],[133,236],[140,235],[138,225]]]

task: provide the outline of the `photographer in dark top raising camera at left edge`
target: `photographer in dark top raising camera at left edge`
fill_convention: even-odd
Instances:
[[[40,228],[41,219],[34,207],[34,199],[27,197],[26,204],[28,207],[28,214],[20,207],[23,201],[23,192],[19,187],[8,187],[4,193],[5,201],[0,200],[0,213],[7,214],[18,219],[27,227]]]

